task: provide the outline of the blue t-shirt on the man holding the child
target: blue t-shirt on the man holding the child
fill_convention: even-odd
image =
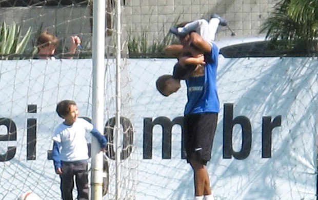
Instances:
[[[184,114],[220,111],[216,87],[216,72],[219,49],[213,43],[212,51],[205,54],[205,73],[203,76],[186,79],[188,102]]]

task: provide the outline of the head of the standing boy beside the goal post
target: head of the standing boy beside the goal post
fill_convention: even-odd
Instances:
[[[56,112],[59,117],[67,119],[69,115],[74,112],[74,115],[78,115],[77,106],[74,101],[71,100],[63,100],[59,102],[56,106]],[[77,116],[73,116],[77,118]]]

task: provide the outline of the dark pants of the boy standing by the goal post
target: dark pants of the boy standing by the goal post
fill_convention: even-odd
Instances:
[[[77,199],[88,200],[87,162],[62,162],[61,192],[63,200],[73,200],[74,175],[77,188]]]

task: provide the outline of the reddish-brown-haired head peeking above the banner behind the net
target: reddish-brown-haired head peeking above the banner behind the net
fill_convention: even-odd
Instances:
[[[38,36],[36,46],[39,54],[52,55],[58,45],[58,39],[55,35],[44,31]]]

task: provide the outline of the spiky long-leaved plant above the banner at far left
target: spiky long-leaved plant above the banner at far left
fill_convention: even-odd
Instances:
[[[0,27],[0,54],[22,54],[30,39],[32,28],[30,27],[24,36],[21,36],[20,26],[6,25]]]

